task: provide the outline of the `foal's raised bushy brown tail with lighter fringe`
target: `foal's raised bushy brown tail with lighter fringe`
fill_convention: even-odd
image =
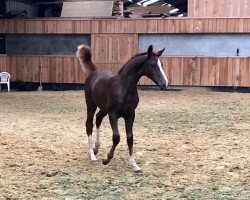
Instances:
[[[76,56],[78,57],[82,69],[87,71],[88,74],[96,70],[94,63],[92,62],[92,54],[90,47],[81,44],[77,47]]]

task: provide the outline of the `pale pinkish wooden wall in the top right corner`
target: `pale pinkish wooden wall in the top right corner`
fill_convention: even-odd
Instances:
[[[249,0],[188,0],[188,17],[249,17]]]

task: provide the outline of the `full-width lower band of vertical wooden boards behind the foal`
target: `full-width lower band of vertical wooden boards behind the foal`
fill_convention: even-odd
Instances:
[[[84,83],[86,78],[75,56],[6,58],[6,65],[1,64],[0,71],[10,72],[12,81],[39,82],[39,65],[43,67],[43,82],[46,83]],[[161,60],[170,85],[250,87],[250,57],[162,57]],[[124,63],[95,64],[101,70],[116,74]],[[143,77],[139,84],[153,83]]]

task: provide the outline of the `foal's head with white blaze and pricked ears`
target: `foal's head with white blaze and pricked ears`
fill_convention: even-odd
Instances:
[[[166,90],[168,86],[168,79],[163,71],[162,63],[159,57],[164,52],[165,48],[158,52],[153,51],[153,46],[150,45],[147,51],[147,59],[143,64],[143,75],[150,78],[157,84],[160,90]]]

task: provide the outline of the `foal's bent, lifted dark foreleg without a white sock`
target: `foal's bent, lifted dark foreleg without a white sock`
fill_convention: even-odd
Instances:
[[[109,121],[110,121],[111,128],[113,131],[113,138],[112,138],[113,145],[109,153],[107,154],[107,158],[103,159],[102,161],[104,165],[107,165],[110,162],[110,160],[114,157],[115,148],[120,142],[120,134],[118,131],[118,118],[116,117],[116,115],[109,115]]]

